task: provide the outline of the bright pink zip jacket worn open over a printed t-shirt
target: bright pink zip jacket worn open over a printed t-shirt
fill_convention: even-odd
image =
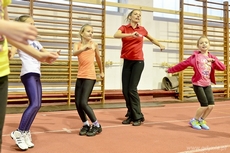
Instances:
[[[189,58],[187,58],[185,61],[180,62],[177,65],[169,68],[168,73],[179,72],[179,71],[186,69],[188,66],[191,66],[193,67],[193,71],[195,72],[192,77],[192,82],[197,82],[202,77],[202,74],[199,71],[198,66],[197,66],[197,55],[200,53],[201,53],[200,51],[194,51],[194,53]],[[208,57],[215,59],[215,61],[212,62],[210,79],[212,83],[216,84],[215,70],[224,71],[226,69],[226,66],[222,62],[220,62],[216,56],[212,55],[209,52],[208,52]]]

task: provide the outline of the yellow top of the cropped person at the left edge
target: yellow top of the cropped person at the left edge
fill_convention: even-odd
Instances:
[[[11,0],[0,0],[0,20],[4,20],[4,7],[11,4]],[[5,39],[2,50],[0,50],[0,77],[6,76],[10,73],[9,58],[8,58],[8,43]]]

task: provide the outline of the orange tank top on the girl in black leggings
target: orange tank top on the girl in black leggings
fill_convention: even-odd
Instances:
[[[80,46],[81,43],[79,43],[78,48],[80,48]],[[94,58],[95,50],[93,49],[88,49],[78,55],[77,78],[96,80]]]

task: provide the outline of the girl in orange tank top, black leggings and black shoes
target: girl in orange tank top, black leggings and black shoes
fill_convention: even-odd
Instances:
[[[75,105],[77,112],[83,122],[79,135],[95,136],[101,133],[102,128],[99,124],[92,108],[88,105],[88,99],[92,93],[96,82],[96,72],[94,59],[100,69],[100,76],[104,77],[103,66],[100,59],[98,44],[92,41],[93,27],[91,25],[83,25],[79,35],[81,41],[74,43],[73,55],[78,56],[78,74],[75,85]],[[87,117],[92,122],[90,126]]]

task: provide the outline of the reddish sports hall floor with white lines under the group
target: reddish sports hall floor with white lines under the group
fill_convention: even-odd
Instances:
[[[209,131],[188,125],[198,103],[142,108],[146,121],[139,127],[122,125],[125,108],[95,109],[103,131],[79,136],[76,111],[40,112],[31,131],[35,147],[27,153],[229,153],[230,101],[217,102],[207,118]],[[21,114],[7,114],[2,153],[21,152],[10,138]]]

